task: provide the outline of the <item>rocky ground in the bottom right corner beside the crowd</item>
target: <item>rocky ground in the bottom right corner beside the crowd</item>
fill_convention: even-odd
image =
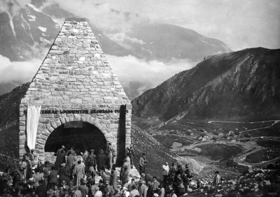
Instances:
[[[223,176],[222,176],[223,177]],[[197,189],[197,180],[200,187]],[[197,177],[190,183],[189,196],[279,196],[280,161],[263,168],[253,168],[232,179],[213,186],[214,175]]]

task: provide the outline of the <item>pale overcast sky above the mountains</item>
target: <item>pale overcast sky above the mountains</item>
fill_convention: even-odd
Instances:
[[[280,48],[279,0],[51,0],[105,29],[129,22],[111,8],[138,13],[141,20],[165,22],[217,38],[232,50]],[[94,3],[102,3],[96,6]],[[76,6],[73,6],[75,4]],[[136,20],[132,20],[134,24]]]

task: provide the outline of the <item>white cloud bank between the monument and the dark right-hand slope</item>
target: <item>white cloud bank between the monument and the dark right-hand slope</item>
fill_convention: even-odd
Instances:
[[[169,63],[163,63],[155,60],[144,61],[133,56],[106,57],[130,99],[135,99],[146,90],[160,85],[176,73],[193,68],[196,64],[187,59],[173,59]]]

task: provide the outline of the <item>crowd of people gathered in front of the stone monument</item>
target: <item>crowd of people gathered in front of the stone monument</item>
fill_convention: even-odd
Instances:
[[[131,176],[134,167],[134,148],[125,151],[125,159],[116,171],[116,154],[109,144],[104,152],[94,154],[94,149],[77,156],[74,147],[69,151],[62,145],[56,152],[54,164],[38,161],[34,164],[34,150],[23,156],[22,163],[10,163],[0,177],[1,196],[74,196],[74,197],[176,197],[188,193],[192,175],[188,164],[162,165],[162,182],[158,177],[146,173],[146,154],[142,153],[139,162],[138,182]],[[108,175],[109,174],[109,175]],[[218,174],[217,174],[218,175]],[[98,178],[97,178],[98,177]],[[118,180],[119,179],[119,180]],[[99,180],[99,181],[98,181]],[[219,177],[215,178],[216,184]]]

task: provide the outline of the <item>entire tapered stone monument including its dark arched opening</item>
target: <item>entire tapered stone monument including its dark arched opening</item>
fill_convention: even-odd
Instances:
[[[122,160],[131,143],[132,105],[83,18],[66,19],[20,103],[20,158],[28,149],[27,105],[41,105],[35,163],[71,143],[82,144],[80,152],[111,143]]]

